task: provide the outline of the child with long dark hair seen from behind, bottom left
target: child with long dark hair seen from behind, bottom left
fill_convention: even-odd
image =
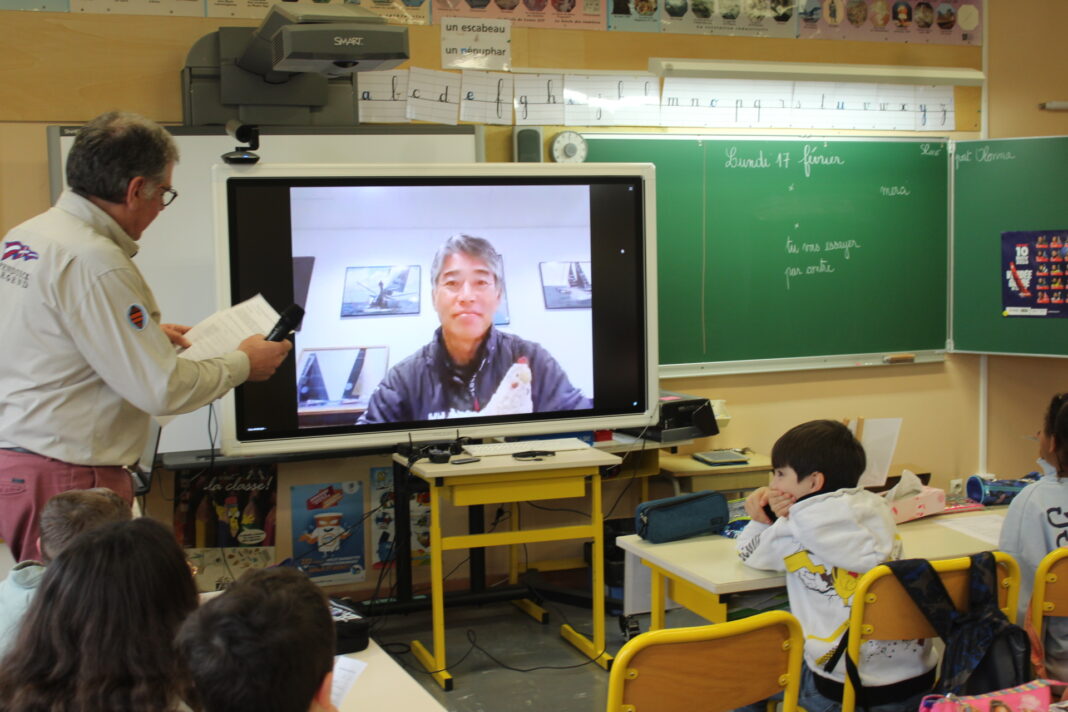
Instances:
[[[174,634],[197,587],[174,535],[151,519],[85,532],[48,565],[0,660],[0,710],[187,709]]]

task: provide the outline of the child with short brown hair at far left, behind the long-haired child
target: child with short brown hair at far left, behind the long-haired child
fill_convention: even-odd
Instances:
[[[82,532],[112,522],[129,521],[129,504],[106,487],[70,490],[52,496],[41,510],[41,561],[19,561],[0,582],[0,656],[18,633],[45,576],[46,565]]]

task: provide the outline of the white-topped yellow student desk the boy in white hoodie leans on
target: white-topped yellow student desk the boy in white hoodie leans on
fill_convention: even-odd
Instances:
[[[906,557],[952,558],[996,549],[996,544],[941,525],[969,517],[995,515],[1004,518],[1007,507],[991,507],[977,511],[937,515],[899,524]],[[654,544],[635,534],[617,537],[624,551],[635,555],[651,569],[651,619],[649,630],[664,627],[665,588],[677,603],[713,623],[727,619],[727,594],[776,588],[786,585],[785,576],[776,571],[753,569],[742,564],[736,551],[736,540],[719,535],[694,537],[680,541]]]

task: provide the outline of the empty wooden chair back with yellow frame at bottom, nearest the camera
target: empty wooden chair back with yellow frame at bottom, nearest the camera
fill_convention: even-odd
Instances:
[[[780,692],[783,712],[795,712],[803,648],[801,624],[785,611],[642,633],[612,664],[608,712],[719,712]]]

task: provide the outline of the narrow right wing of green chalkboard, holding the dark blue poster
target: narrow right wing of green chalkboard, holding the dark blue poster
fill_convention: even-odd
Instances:
[[[1010,273],[1002,234],[1042,231],[1068,232],[1068,138],[956,142],[955,350],[1068,355],[1064,305],[1059,317],[1004,314]],[[1035,267],[1018,270],[1032,290]]]

